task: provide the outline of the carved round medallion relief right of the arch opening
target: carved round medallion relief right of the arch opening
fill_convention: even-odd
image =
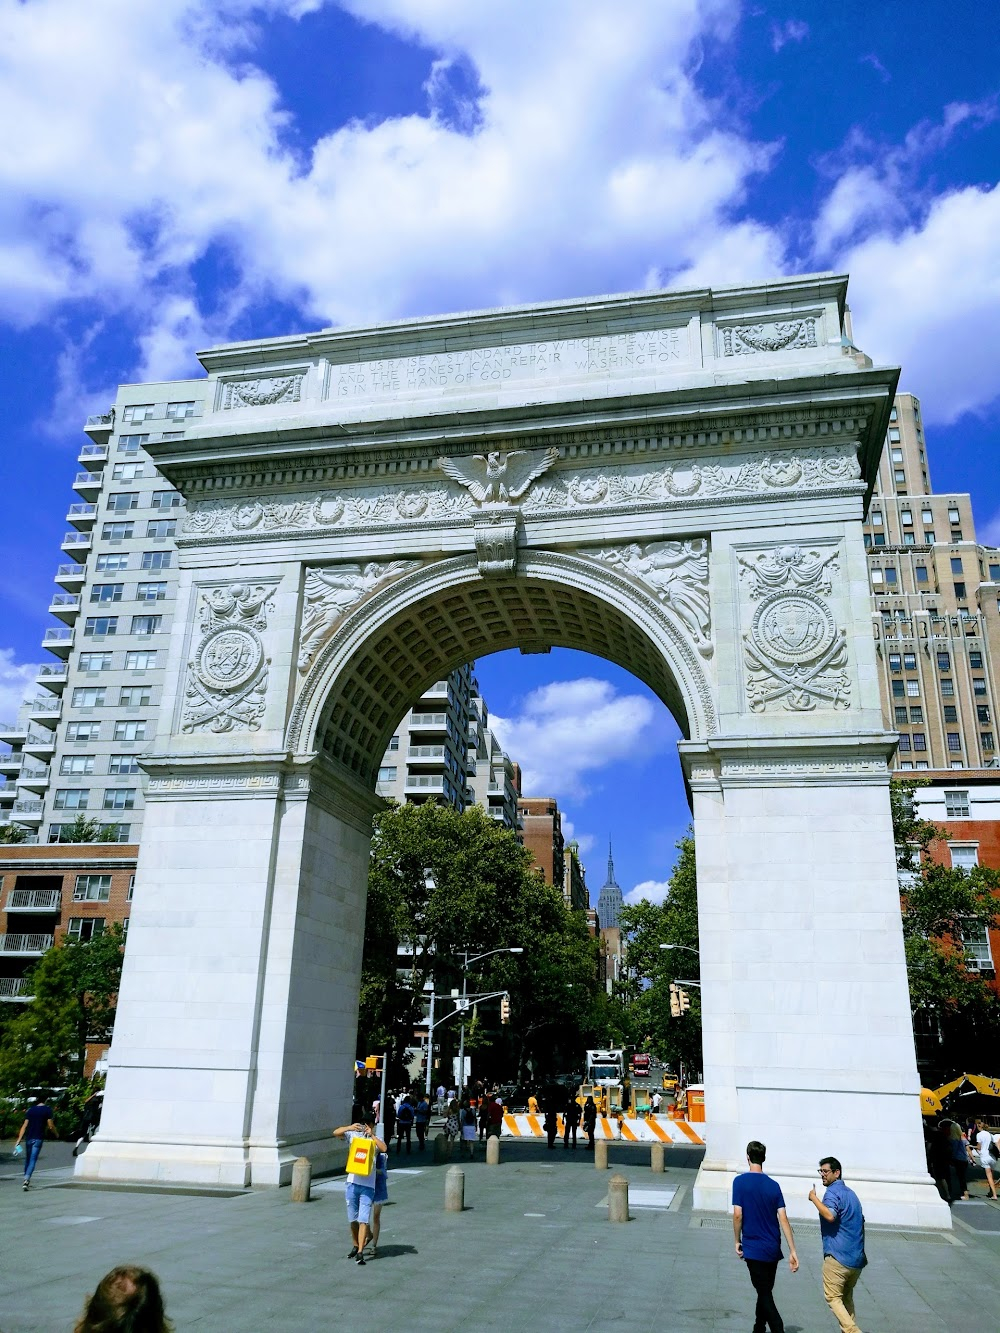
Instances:
[[[837,551],[788,545],[736,559],[757,604],[743,636],[751,710],[761,713],[779,701],[795,713],[849,708],[847,632],[824,600],[839,569]]]

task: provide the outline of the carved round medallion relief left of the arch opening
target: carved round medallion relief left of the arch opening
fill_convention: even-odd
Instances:
[[[268,686],[267,629],[273,589],[227,584],[201,593],[201,639],[188,663],[184,732],[256,732]]]

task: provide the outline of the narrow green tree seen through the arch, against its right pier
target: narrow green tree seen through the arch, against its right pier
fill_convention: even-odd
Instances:
[[[627,973],[621,997],[632,1040],[645,1045],[649,1037],[660,1058],[675,1065],[684,1061],[688,1069],[700,1069],[701,990],[687,988],[691,1008],[679,1018],[671,1014],[669,990],[677,978],[696,981],[700,976],[697,870],[691,833],[677,842],[677,860],[663,904],[643,901],[623,908],[621,934]],[[661,949],[661,944],[683,948]]]

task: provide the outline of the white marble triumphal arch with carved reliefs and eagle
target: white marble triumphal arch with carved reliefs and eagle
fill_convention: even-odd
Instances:
[[[204,355],[97,1180],[276,1185],[347,1112],[375,778],[423,688],[584,648],[664,700],[699,868],[708,1150],[872,1221],[923,1162],[867,565],[897,371],[845,280],[324,331]],[[891,1126],[892,1150],[885,1150]]]

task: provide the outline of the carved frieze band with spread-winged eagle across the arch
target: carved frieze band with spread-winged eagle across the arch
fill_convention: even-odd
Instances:
[[[413,488],[383,485],[324,491],[281,500],[189,500],[183,537],[239,539],[264,533],[364,529],[475,520],[484,507],[512,505],[531,516],[572,511],[729,501],[747,496],[839,488],[860,479],[857,451],[828,448],[743,455],[715,463],[632,463],[564,471],[539,480],[557,459],[551,449],[515,449],[441,459],[449,479]]]

